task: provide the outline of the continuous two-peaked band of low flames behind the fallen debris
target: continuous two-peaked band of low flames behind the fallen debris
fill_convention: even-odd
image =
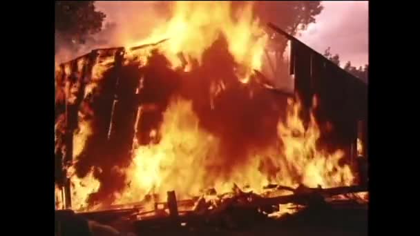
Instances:
[[[278,169],[272,180],[281,185],[330,188],[352,184],[354,176],[350,166],[338,164],[343,152],[318,150],[316,121],[312,116],[305,130],[299,111],[300,103],[289,100],[287,118],[278,124],[278,137],[284,148],[256,151],[250,154],[249,163],[222,177],[211,170],[221,161],[217,158],[220,140],[199,128],[189,101],[174,101],[164,114],[160,143],[135,150],[133,164],[126,170],[130,184],[117,204],[139,201],[149,193],[164,197],[166,191],[174,189],[180,198],[200,195],[208,188],[226,193],[233,184],[262,193],[269,178],[268,173],[258,167],[267,158]]]

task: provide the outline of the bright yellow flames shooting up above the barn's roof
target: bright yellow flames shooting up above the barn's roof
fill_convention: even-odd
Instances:
[[[251,4],[232,15],[229,1],[176,1],[169,21],[155,28],[147,39],[129,42],[126,48],[169,39],[162,46],[162,52],[173,68],[182,66],[179,56],[182,52],[188,70],[191,61],[200,63],[204,50],[222,35],[227,39],[229,52],[240,65],[236,68],[238,78],[247,82],[253,70],[262,66],[268,39],[258,19],[253,17]]]

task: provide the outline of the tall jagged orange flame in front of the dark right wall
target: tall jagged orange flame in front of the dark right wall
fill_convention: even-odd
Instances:
[[[343,151],[327,153],[318,150],[316,141],[320,131],[314,115],[311,112],[309,126],[305,130],[303,121],[298,117],[299,112],[300,103],[292,106],[292,101],[289,100],[286,123],[278,125],[287,165],[291,166],[302,177],[302,183],[309,187],[321,185],[323,188],[330,188],[352,184],[354,176],[350,166],[338,164],[338,161],[344,157]]]

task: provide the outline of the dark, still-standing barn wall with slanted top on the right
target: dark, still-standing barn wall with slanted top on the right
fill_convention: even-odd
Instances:
[[[334,127],[329,133],[322,132],[323,142],[355,157],[358,122],[367,119],[367,86],[299,41],[292,41],[291,51],[294,63],[290,71],[303,107],[309,112],[316,95],[316,119]]]

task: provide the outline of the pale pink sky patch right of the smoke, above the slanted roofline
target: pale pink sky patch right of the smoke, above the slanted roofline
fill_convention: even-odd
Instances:
[[[338,53],[341,66],[351,61],[364,66],[369,58],[368,1],[323,1],[323,12],[316,23],[308,26],[298,37],[308,46],[323,53],[331,47]]]

